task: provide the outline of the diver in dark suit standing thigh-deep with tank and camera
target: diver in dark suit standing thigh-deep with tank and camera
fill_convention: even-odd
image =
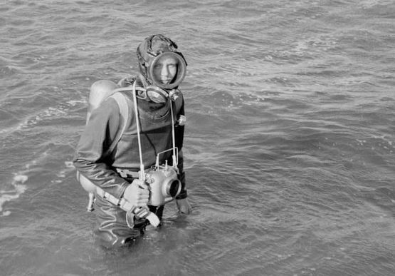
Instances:
[[[191,212],[182,158],[184,98],[178,88],[185,58],[161,34],[144,39],[137,58],[137,76],[91,86],[87,124],[73,159],[91,203],[95,198],[94,232],[105,246],[127,245],[149,223],[159,225],[170,200],[179,213]]]

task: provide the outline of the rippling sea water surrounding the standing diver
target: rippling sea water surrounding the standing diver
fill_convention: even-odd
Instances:
[[[1,1],[1,275],[393,275],[393,1]],[[177,41],[193,213],[104,251],[88,89]]]

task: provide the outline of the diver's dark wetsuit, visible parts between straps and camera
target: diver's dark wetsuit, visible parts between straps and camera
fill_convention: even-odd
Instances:
[[[120,109],[113,98],[108,98],[90,116],[85,131],[75,150],[73,163],[85,178],[98,185],[105,192],[119,199],[122,197],[127,185],[133,180],[132,175],[123,175],[117,171],[139,170],[139,148],[137,143],[137,128],[135,109],[133,106],[132,93],[122,92],[127,98],[129,106],[129,118],[127,128],[111,153],[108,148],[120,131],[122,120]],[[172,117],[170,104],[173,106],[174,121],[180,115],[184,115],[184,99],[182,95],[175,102],[157,104],[138,99],[139,124],[142,131],[142,160],[144,168],[150,168],[155,163],[157,153],[172,148]],[[181,152],[184,140],[184,126],[175,127],[176,146]],[[161,155],[161,163],[164,160],[172,162],[171,151]],[[181,180],[181,193],[177,199],[186,198],[185,175],[183,171],[183,158],[179,154],[179,180]],[[107,200],[95,195],[95,213],[97,225],[95,234],[102,242],[109,245],[122,245],[128,240],[140,235],[140,229],[130,229],[125,220],[125,211]],[[150,210],[162,217],[163,206]],[[135,224],[144,225],[144,222]]]

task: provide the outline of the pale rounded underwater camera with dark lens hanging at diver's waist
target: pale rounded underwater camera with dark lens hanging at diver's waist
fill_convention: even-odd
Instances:
[[[177,166],[167,165],[167,160],[164,165],[159,165],[159,154],[157,163],[145,173],[145,181],[151,190],[148,204],[153,206],[169,203],[181,193]]]

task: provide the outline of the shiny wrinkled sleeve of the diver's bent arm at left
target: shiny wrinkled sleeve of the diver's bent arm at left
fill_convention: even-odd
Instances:
[[[107,153],[120,125],[120,109],[116,101],[107,99],[90,116],[75,149],[75,168],[105,192],[120,198],[127,188],[126,180],[111,168]]]

